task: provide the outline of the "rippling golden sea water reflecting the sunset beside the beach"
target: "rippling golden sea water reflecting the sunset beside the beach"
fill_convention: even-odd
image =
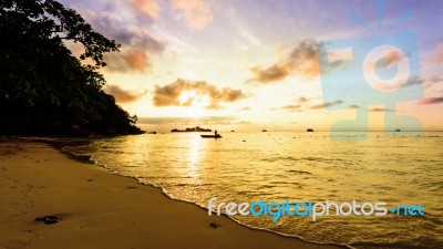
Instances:
[[[443,248],[443,133],[331,139],[329,133],[145,134],[94,139],[68,151],[161,187],[175,199],[385,201],[422,205],[424,216],[233,216],[259,229],[353,248]],[[359,133],[343,133],[356,138]]]

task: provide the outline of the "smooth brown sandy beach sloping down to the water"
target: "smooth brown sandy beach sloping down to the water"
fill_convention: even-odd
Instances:
[[[0,248],[340,248],[208,216],[38,142],[0,143]],[[45,225],[34,220],[56,216]]]

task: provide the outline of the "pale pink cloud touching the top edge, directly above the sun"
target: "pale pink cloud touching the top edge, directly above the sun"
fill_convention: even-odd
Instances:
[[[213,22],[213,13],[203,0],[172,0],[172,7],[182,12],[192,30],[203,30]]]

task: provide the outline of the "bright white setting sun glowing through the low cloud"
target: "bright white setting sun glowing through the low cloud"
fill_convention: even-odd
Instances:
[[[181,94],[178,101],[181,105],[185,106],[187,116],[198,118],[206,114],[206,107],[209,105],[210,98],[196,91],[186,91]]]

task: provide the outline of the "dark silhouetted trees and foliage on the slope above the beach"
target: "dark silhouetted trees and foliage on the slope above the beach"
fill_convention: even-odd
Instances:
[[[80,42],[81,60],[64,40]],[[53,0],[0,0],[0,135],[137,134],[97,69],[115,41]]]

